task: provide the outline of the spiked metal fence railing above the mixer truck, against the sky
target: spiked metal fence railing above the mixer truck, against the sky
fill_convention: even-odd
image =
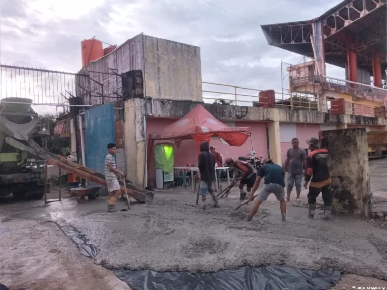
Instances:
[[[26,98],[32,105],[120,105],[121,85],[114,70],[83,74],[0,64],[0,99]]]

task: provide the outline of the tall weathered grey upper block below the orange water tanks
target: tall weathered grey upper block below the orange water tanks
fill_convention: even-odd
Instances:
[[[128,39],[112,53],[91,62],[80,73],[89,74],[102,83],[105,96],[116,96],[113,92],[122,95],[122,90],[121,78],[115,73],[121,75],[131,70],[143,72],[144,93],[147,97],[202,101],[200,48],[184,43],[140,34]],[[96,92],[101,93],[100,86],[93,81],[87,81],[82,86],[90,86],[94,95],[98,95]],[[114,100],[105,98],[105,102]],[[100,103],[102,98],[92,98],[92,104]]]

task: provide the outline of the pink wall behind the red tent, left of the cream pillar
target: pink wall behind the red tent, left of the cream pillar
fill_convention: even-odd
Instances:
[[[175,122],[176,119],[161,119],[161,118],[147,118],[147,140],[149,134],[159,133],[168,125]],[[253,138],[253,147],[257,156],[267,156],[267,137],[266,137],[266,123],[247,123],[247,122],[235,122],[236,127],[251,127],[251,133]],[[158,143],[172,143],[172,140],[155,141],[154,144]],[[247,140],[240,147],[229,146],[223,144],[220,139],[211,140],[211,145],[215,146],[216,150],[222,154],[223,158],[232,157],[238,158],[242,155],[248,155],[251,151],[250,139]],[[175,167],[186,166],[187,164],[193,164],[197,166],[198,155],[195,148],[195,142],[193,140],[184,140],[181,142],[179,148],[174,146],[175,152]],[[148,157],[149,158],[149,157]],[[152,182],[156,179],[156,168],[154,155],[151,156],[150,168],[149,168],[149,181]]]

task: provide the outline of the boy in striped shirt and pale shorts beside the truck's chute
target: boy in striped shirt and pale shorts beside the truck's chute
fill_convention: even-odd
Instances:
[[[107,212],[114,213],[117,212],[114,209],[114,206],[116,205],[117,198],[121,193],[121,187],[118,183],[117,175],[125,178],[125,173],[117,170],[116,160],[114,159],[114,155],[117,153],[116,144],[107,144],[107,150],[109,151],[109,154],[107,154],[105,159],[105,181],[109,192],[107,198]]]

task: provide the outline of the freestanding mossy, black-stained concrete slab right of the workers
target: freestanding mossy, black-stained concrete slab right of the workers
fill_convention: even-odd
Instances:
[[[369,215],[370,168],[364,128],[324,132],[328,141],[334,210]]]

